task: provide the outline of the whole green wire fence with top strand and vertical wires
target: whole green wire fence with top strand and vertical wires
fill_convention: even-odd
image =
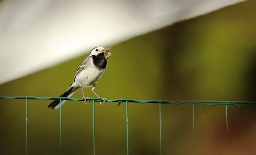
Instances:
[[[26,101],[26,154],[28,154],[28,100],[72,100],[72,101],[84,101],[82,99],[76,98],[67,98],[67,97],[34,97],[34,96],[17,96],[17,97],[6,97],[0,96],[0,99],[13,100],[13,99],[24,99]],[[95,155],[95,102],[101,102],[102,99],[99,98],[89,98],[87,101],[93,102],[93,154]],[[115,100],[106,100],[106,102],[118,102],[119,106],[122,102],[126,103],[126,147],[127,155],[129,155],[129,134],[128,134],[128,102],[136,103],[154,103],[159,104],[159,130],[160,130],[160,154],[162,155],[162,117],[161,117],[161,104],[192,104],[193,111],[193,133],[195,134],[195,104],[203,104],[205,106],[216,106],[216,105],[225,105],[226,108],[226,130],[228,132],[228,105],[239,106],[239,107],[248,107],[256,106],[256,102],[248,101],[167,101],[167,100],[134,100],[134,99],[115,99]],[[60,154],[62,154],[62,119],[61,119],[61,104],[60,104]]]

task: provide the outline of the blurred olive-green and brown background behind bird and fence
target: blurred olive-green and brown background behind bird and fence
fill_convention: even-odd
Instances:
[[[101,46],[101,45],[99,45]],[[107,99],[256,101],[256,1],[180,21],[112,47],[95,91]],[[93,48],[93,47],[92,47]],[[85,51],[89,52],[89,51]],[[87,57],[0,85],[0,96],[63,93]],[[86,96],[95,98],[91,88]],[[81,91],[72,98],[82,98]],[[0,153],[25,154],[25,100],[0,100]],[[28,154],[59,154],[59,110],[28,101]],[[96,154],[126,154],[125,104],[95,104]],[[159,105],[129,103],[130,154],[160,154]],[[256,154],[256,107],[162,105],[163,154]],[[62,106],[63,154],[93,154],[92,103]]]

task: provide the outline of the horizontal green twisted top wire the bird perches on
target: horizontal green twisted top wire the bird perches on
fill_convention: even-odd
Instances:
[[[17,97],[7,97],[7,96],[0,96],[0,99],[6,100],[13,100],[13,99],[34,99],[34,100],[72,100],[72,101],[84,101],[83,99],[79,98],[67,98],[67,97],[34,97],[34,96],[17,96]],[[103,99],[99,98],[89,98],[87,101],[96,101],[101,102]],[[247,106],[256,106],[256,102],[251,101],[167,101],[167,100],[134,100],[134,99],[115,99],[115,100],[106,100],[106,102],[137,102],[137,103],[157,103],[161,102],[162,104],[184,104],[184,103],[191,103],[191,104],[203,104],[205,106],[215,106],[215,105],[234,105],[239,107],[247,107]],[[241,105],[246,104],[246,105]]]

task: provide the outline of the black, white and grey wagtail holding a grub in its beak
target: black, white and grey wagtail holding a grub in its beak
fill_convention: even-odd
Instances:
[[[108,53],[106,57],[104,57],[105,53]],[[109,57],[111,57],[111,47],[108,49],[105,49],[103,47],[95,47],[91,50],[89,53],[89,56],[84,60],[84,62],[78,67],[78,70],[76,71],[74,82],[70,85],[69,89],[65,91],[61,96],[59,97],[70,97],[72,96],[78,89],[82,88],[82,99],[86,101],[85,94],[84,94],[84,88],[85,87],[92,87],[91,91],[100,98],[95,92],[95,85],[99,81],[100,77],[104,73],[106,66],[107,66],[107,60]],[[100,98],[101,99],[101,98]],[[105,99],[103,98],[103,101],[105,102]],[[61,101],[61,105],[65,103],[66,100]],[[102,104],[102,103],[100,103]],[[48,108],[59,108],[59,99],[54,100],[52,103],[48,105]]]

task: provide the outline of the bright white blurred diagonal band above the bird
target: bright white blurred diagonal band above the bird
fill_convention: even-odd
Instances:
[[[0,2],[0,83],[242,0]]]

